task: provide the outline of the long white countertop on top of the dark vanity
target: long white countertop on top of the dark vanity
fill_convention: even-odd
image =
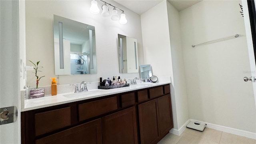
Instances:
[[[154,86],[160,86],[164,84],[170,84],[171,82],[156,82],[156,83],[141,83],[137,85],[130,85],[122,88],[113,88],[109,90],[94,89],[88,90],[88,92],[80,93],[65,93],[57,94],[56,96],[45,96],[41,98],[24,100],[24,108],[21,108],[21,112],[34,110],[38,108],[45,108],[49,106],[56,106],[60,104],[66,104],[70,102],[76,102],[80,100],[87,100],[90,98],[98,98],[102,96],[108,96],[112,94],[118,94],[122,92],[129,92],[133,90],[140,90],[143,88],[150,88]]]

